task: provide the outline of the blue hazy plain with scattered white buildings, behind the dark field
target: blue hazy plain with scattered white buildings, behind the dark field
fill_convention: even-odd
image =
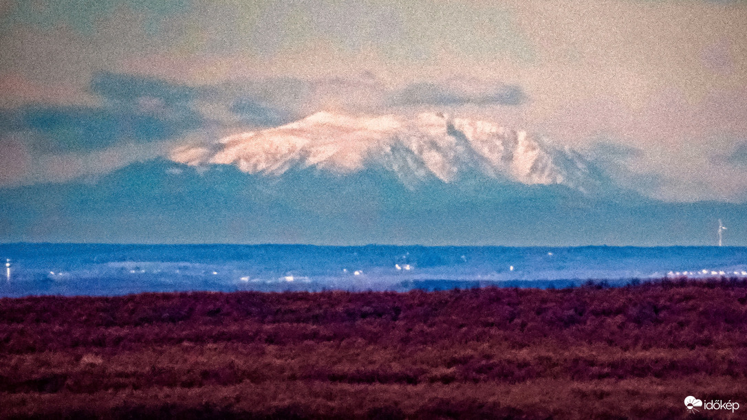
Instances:
[[[737,247],[0,245],[1,296],[188,290],[397,290],[747,278]]]

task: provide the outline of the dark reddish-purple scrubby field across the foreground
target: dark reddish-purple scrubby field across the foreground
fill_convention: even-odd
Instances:
[[[747,283],[0,299],[29,417],[747,418]]]

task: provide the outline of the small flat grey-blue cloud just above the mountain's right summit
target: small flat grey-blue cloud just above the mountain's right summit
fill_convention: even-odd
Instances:
[[[390,99],[391,104],[394,105],[443,106],[465,104],[517,106],[526,101],[527,95],[524,90],[516,85],[504,84],[492,87],[483,93],[468,93],[428,82],[409,84],[391,95]]]

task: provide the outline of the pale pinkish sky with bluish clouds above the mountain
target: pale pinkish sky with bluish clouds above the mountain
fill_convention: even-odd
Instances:
[[[0,0],[0,191],[18,207],[319,111],[437,111],[657,202],[740,205],[746,22],[743,1]]]

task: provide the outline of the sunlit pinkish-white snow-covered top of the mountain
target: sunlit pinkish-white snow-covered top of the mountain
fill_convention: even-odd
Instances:
[[[378,166],[394,172],[408,187],[434,177],[453,183],[474,176],[560,184],[583,192],[604,183],[601,173],[570,149],[556,148],[525,131],[442,113],[408,118],[320,112],[214,144],[182,146],[170,158],[191,166],[235,165],[260,175],[281,175],[294,167],[348,174]]]

